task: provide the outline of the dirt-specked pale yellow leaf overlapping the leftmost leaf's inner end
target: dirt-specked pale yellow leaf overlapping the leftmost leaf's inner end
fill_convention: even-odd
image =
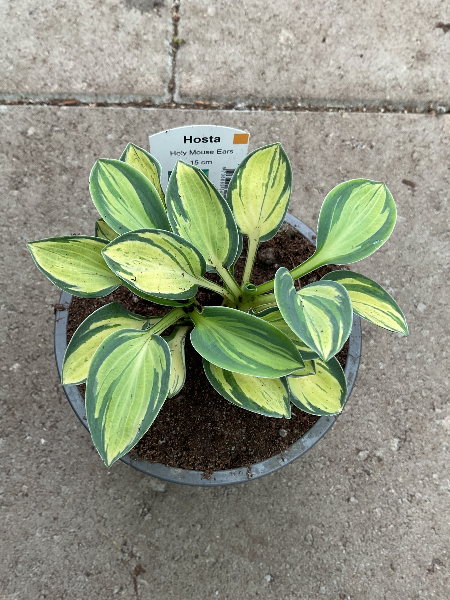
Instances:
[[[121,280],[170,300],[195,296],[206,271],[197,248],[175,233],[157,229],[125,233],[107,245],[103,256]]]

